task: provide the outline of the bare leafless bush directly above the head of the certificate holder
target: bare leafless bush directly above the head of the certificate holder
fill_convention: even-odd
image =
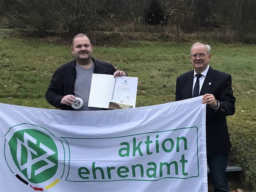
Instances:
[[[70,33],[87,32],[97,27],[116,10],[113,0],[55,0],[49,10],[56,20],[67,25]],[[50,11],[50,12],[51,12]]]

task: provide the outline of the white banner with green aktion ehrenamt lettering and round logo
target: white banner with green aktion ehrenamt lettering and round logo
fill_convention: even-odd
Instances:
[[[208,191],[201,96],[107,111],[1,103],[0,116],[0,191]]]

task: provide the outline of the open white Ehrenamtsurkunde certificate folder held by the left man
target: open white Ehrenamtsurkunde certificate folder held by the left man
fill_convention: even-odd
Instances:
[[[138,77],[92,74],[88,107],[135,108]]]

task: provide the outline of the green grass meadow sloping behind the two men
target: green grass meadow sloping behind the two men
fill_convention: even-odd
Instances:
[[[232,75],[237,101],[235,115],[228,117],[231,159],[256,190],[256,46],[205,43],[212,46],[210,65]],[[193,69],[189,49],[190,44],[130,41],[95,46],[93,56],[139,77],[136,107],[141,107],[175,100],[176,77]],[[68,46],[0,34],[0,102],[54,108],[44,98],[46,89],[54,70],[72,59]]]

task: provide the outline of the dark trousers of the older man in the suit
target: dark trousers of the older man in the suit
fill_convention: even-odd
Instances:
[[[214,192],[229,192],[226,169],[228,154],[207,156]]]

